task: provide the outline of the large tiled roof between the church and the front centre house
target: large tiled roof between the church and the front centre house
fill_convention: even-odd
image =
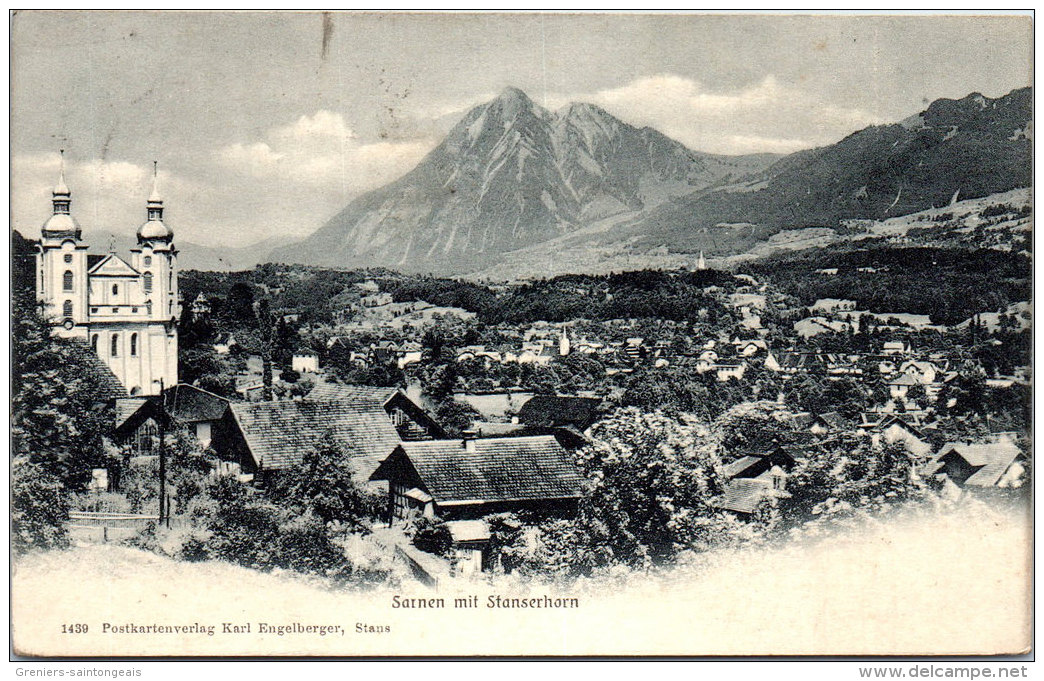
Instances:
[[[268,470],[300,463],[309,448],[332,438],[348,449],[359,474],[367,476],[399,444],[387,413],[371,401],[231,402],[229,406],[254,461]]]

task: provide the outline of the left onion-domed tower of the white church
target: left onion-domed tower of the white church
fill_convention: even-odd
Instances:
[[[51,216],[44,222],[37,253],[37,299],[53,321],[55,333],[87,338],[87,244],[72,216],[72,192],[65,180],[65,152],[58,181],[51,190]]]

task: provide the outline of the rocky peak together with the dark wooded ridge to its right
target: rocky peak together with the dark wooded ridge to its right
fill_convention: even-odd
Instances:
[[[412,171],[271,259],[494,279],[725,258],[1031,185],[1033,93],[940,99],[782,159],[699,154],[590,104],[519,90],[476,107]]]

